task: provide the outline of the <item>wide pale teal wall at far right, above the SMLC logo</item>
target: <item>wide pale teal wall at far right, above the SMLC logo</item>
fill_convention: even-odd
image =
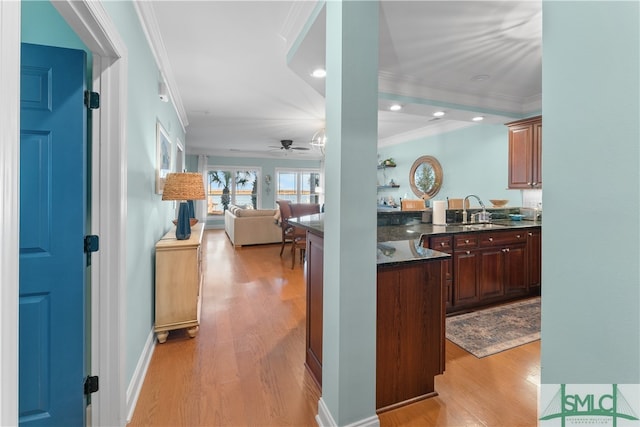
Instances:
[[[640,383],[640,3],[543,2],[542,383]]]

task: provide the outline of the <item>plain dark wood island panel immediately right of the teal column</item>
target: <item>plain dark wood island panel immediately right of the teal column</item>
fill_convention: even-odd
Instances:
[[[376,409],[436,396],[445,369],[445,308],[440,260],[378,265]]]

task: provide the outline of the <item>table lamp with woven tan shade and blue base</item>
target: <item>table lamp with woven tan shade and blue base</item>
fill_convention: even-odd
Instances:
[[[202,174],[181,172],[167,175],[164,182],[162,200],[180,200],[178,221],[176,223],[176,239],[186,240],[191,237],[191,221],[187,200],[203,200],[204,198]]]

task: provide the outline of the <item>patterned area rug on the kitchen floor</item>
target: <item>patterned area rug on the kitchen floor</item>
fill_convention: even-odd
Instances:
[[[540,339],[540,297],[447,317],[447,339],[482,358]]]

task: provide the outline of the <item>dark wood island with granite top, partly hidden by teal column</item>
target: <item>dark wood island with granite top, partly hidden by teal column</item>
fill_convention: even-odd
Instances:
[[[323,214],[292,221],[307,230],[305,365],[322,385]],[[416,239],[378,242],[376,409],[436,395],[444,372],[444,261],[450,255]]]

